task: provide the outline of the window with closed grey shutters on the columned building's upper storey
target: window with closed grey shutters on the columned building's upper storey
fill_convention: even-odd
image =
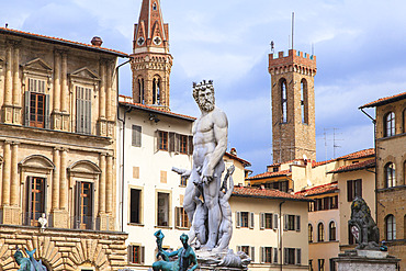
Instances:
[[[91,89],[76,87],[76,132],[91,134]]]

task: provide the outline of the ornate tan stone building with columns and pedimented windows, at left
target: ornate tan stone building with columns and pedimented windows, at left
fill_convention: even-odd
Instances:
[[[15,245],[49,270],[126,260],[114,232],[115,67],[128,56],[92,43],[0,29],[2,270],[16,270]]]

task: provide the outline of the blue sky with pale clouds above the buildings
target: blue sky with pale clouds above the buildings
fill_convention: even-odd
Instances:
[[[1,4],[0,25],[132,52],[140,0],[19,0]],[[361,0],[161,0],[169,23],[171,110],[198,116],[193,81],[213,79],[216,103],[228,115],[229,148],[255,173],[272,161],[270,41],[317,56],[315,78],[317,160],[373,147],[373,125],[358,108],[406,89],[406,2]],[[131,71],[120,91],[131,94]],[[374,113],[371,111],[370,113]],[[326,138],[325,140],[325,135]]]

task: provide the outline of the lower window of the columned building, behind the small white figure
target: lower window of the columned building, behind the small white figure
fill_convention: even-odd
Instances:
[[[29,177],[26,225],[38,226],[38,218],[45,213],[46,179]]]

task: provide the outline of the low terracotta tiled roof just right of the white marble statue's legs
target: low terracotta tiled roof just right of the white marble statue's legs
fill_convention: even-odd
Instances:
[[[258,189],[248,187],[234,187],[233,195],[235,196],[251,196],[264,199],[287,199],[294,201],[308,201],[301,195],[289,194],[274,189]]]

